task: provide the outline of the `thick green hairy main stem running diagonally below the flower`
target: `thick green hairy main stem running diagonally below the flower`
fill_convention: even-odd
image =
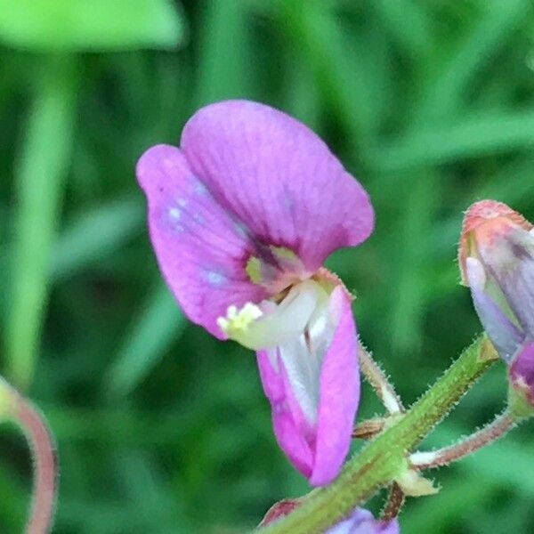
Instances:
[[[389,485],[408,468],[409,452],[447,416],[495,360],[495,349],[486,338],[475,341],[399,423],[349,460],[336,481],[312,491],[302,506],[262,530],[263,534],[320,534]]]

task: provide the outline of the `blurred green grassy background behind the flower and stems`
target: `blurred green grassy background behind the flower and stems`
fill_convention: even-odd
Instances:
[[[0,42],[0,370],[56,435],[59,534],[242,532],[307,490],[253,354],[182,317],[150,249],[135,162],[199,106],[284,109],[368,188],[375,234],[328,265],[406,402],[480,329],[458,285],[462,211],[490,197],[534,218],[531,0],[0,0]],[[428,445],[502,409],[504,376]],[[366,387],[360,417],[379,410]],[[0,430],[11,534],[30,458]],[[436,472],[403,532],[531,532],[533,434]]]

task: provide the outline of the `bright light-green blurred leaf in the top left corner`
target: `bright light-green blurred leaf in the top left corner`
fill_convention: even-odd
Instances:
[[[0,39],[33,50],[173,47],[184,37],[170,0],[0,0]]]

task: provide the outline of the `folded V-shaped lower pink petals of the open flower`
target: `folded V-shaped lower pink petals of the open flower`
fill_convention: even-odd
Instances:
[[[279,357],[257,352],[263,391],[271,402],[274,433],[289,461],[314,486],[328,484],[339,473],[352,440],[352,425],[360,401],[360,370],[351,299],[344,287],[331,295],[330,312],[338,321],[320,369],[317,424],[303,416]]]

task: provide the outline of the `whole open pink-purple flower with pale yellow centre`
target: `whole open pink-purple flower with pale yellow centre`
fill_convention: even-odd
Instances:
[[[373,230],[368,195],[306,126],[251,101],[200,109],[137,176],[190,320],[257,352],[274,431],[314,485],[339,472],[360,397],[351,296],[321,267]]]

